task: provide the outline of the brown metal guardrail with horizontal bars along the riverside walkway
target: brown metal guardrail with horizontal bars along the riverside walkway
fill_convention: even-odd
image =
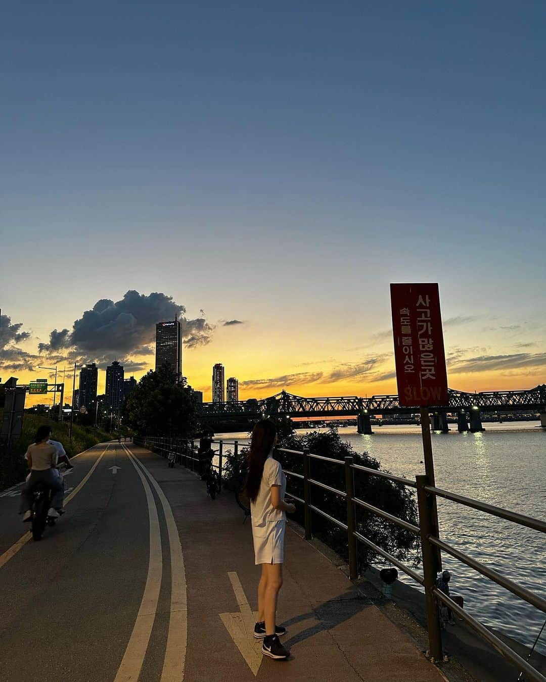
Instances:
[[[149,449],[154,449],[158,451],[159,454],[166,454],[169,451],[175,451],[179,453],[182,458],[184,458],[184,464],[192,469],[195,469],[195,462],[199,462],[199,458],[195,457],[195,442],[187,439],[161,439],[161,438],[142,438],[134,439],[135,443],[143,445],[143,447],[148,447]],[[189,445],[188,445],[189,444]],[[239,453],[239,443],[238,441],[213,441],[213,445],[218,446],[218,451],[215,451],[216,456],[218,456],[218,464],[216,469],[220,473],[220,479],[222,476],[222,466],[224,457],[224,447],[225,445],[233,446],[233,455],[236,457]],[[214,447],[213,447],[214,449]],[[191,454],[188,454],[187,451]],[[508,661],[510,661],[518,670],[527,675],[528,679],[534,682],[546,682],[546,677],[538,672],[536,668],[533,668],[525,659],[523,659],[519,654],[517,654],[508,644],[505,644],[500,638],[495,636],[485,625],[480,623],[470,614],[465,612],[460,606],[458,606],[450,597],[445,595],[442,591],[436,587],[436,576],[442,566],[441,552],[446,552],[450,554],[451,557],[465,563],[472,569],[476,570],[483,576],[493,580],[504,589],[511,591],[511,593],[517,595],[521,599],[524,599],[528,604],[532,604],[539,610],[546,613],[546,599],[543,599],[539,595],[532,593],[530,590],[521,586],[517,582],[505,578],[500,573],[494,571],[493,569],[487,567],[480,561],[472,559],[468,554],[457,550],[457,548],[451,546],[447,542],[438,537],[435,534],[435,529],[437,529],[437,505],[435,504],[435,499],[441,497],[443,499],[450,500],[454,503],[465,505],[466,507],[472,507],[472,509],[477,509],[478,511],[483,511],[485,514],[490,514],[491,516],[497,516],[504,520],[508,520],[520,526],[524,526],[530,529],[534,529],[539,533],[546,533],[546,522],[532,518],[531,516],[526,516],[524,514],[517,514],[514,511],[508,509],[502,509],[502,507],[495,507],[478,500],[474,500],[470,497],[465,497],[454,492],[449,492],[448,490],[442,490],[442,488],[437,488],[436,486],[431,486],[430,481],[426,475],[416,476],[416,480],[407,479],[401,476],[395,476],[385,471],[377,471],[376,469],[370,469],[367,466],[360,466],[360,464],[355,464],[352,457],[345,457],[344,460],[338,460],[335,458],[324,457],[321,455],[311,454],[308,449],[291,450],[287,448],[278,448],[277,454],[281,456],[285,454],[296,455],[302,458],[301,469],[302,473],[298,471],[291,471],[283,467],[283,471],[287,475],[288,479],[294,479],[297,481],[302,481],[303,484],[303,498],[293,494],[290,490],[287,493],[304,508],[304,529],[305,529],[305,539],[310,540],[313,537],[313,527],[312,527],[312,514],[317,514],[321,518],[325,518],[328,522],[334,524],[347,533],[347,546],[349,550],[349,578],[355,580],[358,577],[358,543],[364,544],[375,552],[379,556],[383,557],[391,563],[392,565],[399,568],[407,576],[412,578],[415,582],[420,584],[425,588],[425,599],[427,603],[427,629],[429,634],[429,655],[433,661],[442,661],[444,659],[444,653],[442,649],[442,632],[440,627],[440,615],[438,606],[440,602],[445,604],[459,616],[469,627],[471,627],[474,632],[476,632],[480,637],[485,639],[492,647],[494,647],[499,653],[501,653]],[[313,461],[328,462],[329,464],[334,464],[334,466],[343,467],[345,471],[345,486],[344,490],[339,488],[334,488],[324,483],[324,481],[319,481],[312,477],[311,475],[311,463]],[[412,523],[407,522],[404,519],[398,518],[389,514],[384,509],[379,509],[367,501],[359,499],[355,496],[355,475],[367,475],[376,476],[392,481],[394,484],[405,486],[407,488],[412,488],[416,490],[417,493],[417,503],[418,503],[418,514],[419,514],[419,525],[415,526]],[[313,488],[318,488],[320,490],[326,490],[326,492],[336,495],[341,499],[345,500],[347,506],[347,523],[340,519],[334,518],[327,514],[324,509],[320,509],[313,504],[312,490]],[[392,554],[386,552],[382,548],[378,547],[376,544],[371,542],[367,537],[356,531],[356,509],[360,507],[371,511],[373,514],[377,514],[381,518],[388,520],[399,527],[409,531],[420,537],[421,542],[421,552],[422,552],[422,576],[418,572],[414,571],[411,567],[405,565],[402,561],[399,561]]]

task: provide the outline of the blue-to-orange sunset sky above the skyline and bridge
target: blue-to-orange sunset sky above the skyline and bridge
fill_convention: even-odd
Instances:
[[[545,29],[525,0],[8,2],[2,380],[138,379],[177,311],[205,400],[216,362],[245,399],[395,393],[389,284],[439,282],[450,387],[546,383]]]

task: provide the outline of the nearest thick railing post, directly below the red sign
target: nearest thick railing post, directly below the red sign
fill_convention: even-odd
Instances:
[[[442,661],[442,632],[440,629],[440,613],[438,612],[433,589],[436,586],[436,552],[429,537],[435,528],[435,505],[426,492],[429,484],[428,476],[417,476],[417,504],[419,507],[419,527],[421,530],[422,572],[425,578],[425,597],[427,599],[427,627],[429,630],[429,654],[431,661]]]

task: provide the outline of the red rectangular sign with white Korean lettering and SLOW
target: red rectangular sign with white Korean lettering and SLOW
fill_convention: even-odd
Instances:
[[[448,375],[437,284],[391,284],[399,403],[448,404]]]

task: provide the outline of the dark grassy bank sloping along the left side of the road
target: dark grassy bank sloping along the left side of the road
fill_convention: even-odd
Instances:
[[[0,421],[3,416],[3,411],[0,410]],[[38,417],[38,415],[29,415],[25,413],[23,417],[23,433],[15,439],[12,439],[10,448],[8,449],[5,441],[0,443],[0,490],[9,488],[16,483],[20,483],[27,475],[27,463],[25,462],[25,452],[27,447],[34,442],[34,436],[38,426],[47,424],[51,426],[51,437],[54,441],[60,441],[63,444],[66,454],[69,457],[77,455],[88,447],[96,445],[97,443],[104,443],[104,441],[111,441],[117,438],[117,434],[113,435],[101,429],[92,426],[79,426],[74,424],[72,427],[72,443],[68,440],[68,421],[63,421],[59,424],[58,421],[52,421],[47,417]]]

